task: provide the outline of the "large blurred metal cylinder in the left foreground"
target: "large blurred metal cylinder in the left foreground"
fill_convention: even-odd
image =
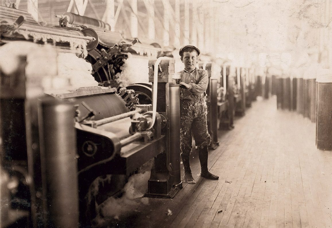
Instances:
[[[45,98],[39,109],[43,212],[47,226],[78,227],[74,108]]]

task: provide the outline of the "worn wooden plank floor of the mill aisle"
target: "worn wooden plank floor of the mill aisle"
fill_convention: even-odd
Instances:
[[[197,177],[173,199],[149,198],[116,227],[332,227],[332,151],[315,146],[315,123],[255,101],[209,152],[218,181]],[[227,183],[229,181],[231,183]],[[171,210],[173,215],[167,215]]]

